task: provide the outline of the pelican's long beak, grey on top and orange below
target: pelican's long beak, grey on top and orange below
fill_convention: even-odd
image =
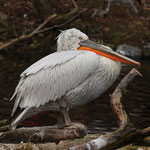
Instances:
[[[92,51],[98,55],[107,57],[115,61],[120,61],[120,62],[127,63],[127,64],[136,64],[138,66],[141,66],[140,62],[137,62],[126,56],[120,55],[119,53],[116,53],[115,51],[103,45],[94,43],[93,41],[90,41],[90,40],[82,41],[80,43],[80,47],[78,48],[78,50]]]

